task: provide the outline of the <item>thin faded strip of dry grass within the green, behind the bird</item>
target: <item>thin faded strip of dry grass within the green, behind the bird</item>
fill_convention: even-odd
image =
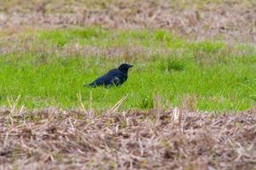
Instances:
[[[104,56],[107,59],[116,57],[131,62],[131,59],[149,59],[150,56],[157,54],[166,56],[175,53],[174,50],[168,48],[144,48],[143,46],[134,45],[132,42],[124,47],[96,47],[91,45],[80,45],[78,42],[73,42],[65,45],[63,48],[59,48],[55,44],[49,46],[49,42],[46,41],[38,42],[34,37],[19,38],[20,37],[0,38],[0,40],[3,40],[3,42],[0,42],[0,54],[22,55],[32,53],[42,55],[49,54],[61,57]],[[180,49],[179,51],[181,51],[179,53],[182,53],[183,50]],[[235,49],[233,51],[235,51]]]

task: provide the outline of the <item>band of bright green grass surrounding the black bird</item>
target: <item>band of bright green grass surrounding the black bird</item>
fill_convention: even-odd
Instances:
[[[243,111],[256,104],[256,53],[249,44],[230,47],[219,41],[189,42],[163,30],[99,27],[15,36],[19,42],[2,42],[20,48],[0,54],[0,105],[9,106],[20,95],[18,105],[28,109],[76,108],[79,94],[86,108],[96,109],[109,108],[126,94],[122,109],[152,108],[155,96],[166,109],[188,98],[201,111]],[[73,49],[74,44],[80,48]],[[88,48],[99,54],[87,54]],[[102,49],[122,53],[106,57]],[[123,86],[83,88],[122,62],[135,65]]]

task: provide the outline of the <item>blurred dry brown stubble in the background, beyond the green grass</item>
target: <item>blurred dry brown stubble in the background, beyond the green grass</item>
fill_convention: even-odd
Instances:
[[[3,2],[0,27],[166,28],[197,40],[256,41],[256,5],[250,0],[19,2]]]

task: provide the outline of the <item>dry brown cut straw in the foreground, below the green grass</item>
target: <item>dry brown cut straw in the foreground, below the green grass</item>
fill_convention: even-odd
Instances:
[[[256,168],[255,109],[219,115],[14,107],[1,109],[0,123],[0,169]]]

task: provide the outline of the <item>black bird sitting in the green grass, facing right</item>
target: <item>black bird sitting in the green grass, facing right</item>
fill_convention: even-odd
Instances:
[[[107,74],[97,78],[94,82],[90,82],[90,84],[84,84],[84,87],[90,86],[91,88],[96,88],[97,86],[120,86],[127,80],[128,70],[131,67],[133,67],[133,65],[119,65],[119,68],[108,71]]]

